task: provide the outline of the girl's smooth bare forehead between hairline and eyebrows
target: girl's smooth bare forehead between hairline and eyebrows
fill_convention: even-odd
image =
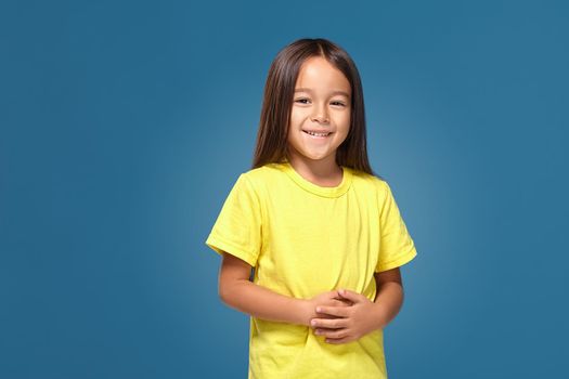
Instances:
[[[348,78],[322,56],[312,56],[302,63],[295,88],[320,93],[351,93]]]

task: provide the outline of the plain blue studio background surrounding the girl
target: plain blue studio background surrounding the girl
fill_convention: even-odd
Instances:
[[[390,377],[566,375],[568,25],[561,1],[2,2],[0,377],[246,377],[204,241],[301,37],[355,61],[417,246]]]

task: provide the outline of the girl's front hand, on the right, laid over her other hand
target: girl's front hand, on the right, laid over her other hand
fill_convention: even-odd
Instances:
[[[326,337],[328,343],[346,343],[382,328],[383,317],[378,304],[365,296],[345,289],[339,297],[351,301],[351,306],[316,306],[316,314],[327,314],[336,318],[312,318],[310,326],[316,336]]]

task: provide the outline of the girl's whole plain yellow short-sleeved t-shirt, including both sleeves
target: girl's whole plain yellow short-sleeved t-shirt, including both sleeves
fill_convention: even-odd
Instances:
[[[387,182],[342,167],[338,186],[288,161],[242,173],[206,245],[254,266],[254,283],[297,299],[351,289],[375,299],[374,272],[408,263],[415,246]],[[308,326],[250,317],[249,379],[387,378],[384,335],[332,344]]]

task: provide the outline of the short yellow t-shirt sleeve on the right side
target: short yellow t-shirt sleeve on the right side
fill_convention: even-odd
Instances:
[[[387,182],[383,183],[384,202],[379,213],[379,258],[376,273],[399,267],[417,254],[391,188]]]

